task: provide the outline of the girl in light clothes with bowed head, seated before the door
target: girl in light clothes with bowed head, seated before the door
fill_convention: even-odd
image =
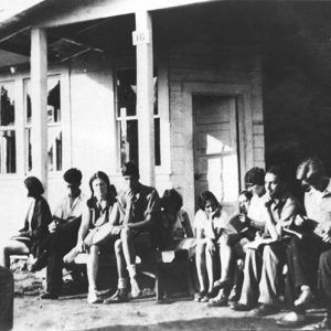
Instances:
[[[220,250],[220,238],[228,227],[228,217],[215,195],[203,191],[199,197],[200,210],[194,217],[196,233],[195,263],[200,292],[194,301],[207,302],[214,296],[214,257]],[[220,253],[220,256],[222,253]],[[221,257],[222,263],[222,257]],[[207,276],[207,277],[205,277]]]

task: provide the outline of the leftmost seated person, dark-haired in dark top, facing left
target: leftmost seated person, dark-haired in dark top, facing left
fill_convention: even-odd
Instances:
[[[28,177],[24,185],[31,202],[24,227],[20,229],[18,236],[12,237],[1,247],[0,264],[6,268],[10,268],[11,255],[32,254],[34,258],[39,257],[41,243],[47,236],[47,226],[52,221],[49,203],[42,196],[44,189],[40,180],[35,177]]]

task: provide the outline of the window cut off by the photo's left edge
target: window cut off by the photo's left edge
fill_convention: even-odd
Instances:
[[[0,83],[0,173],[17,172],[13,82]]]

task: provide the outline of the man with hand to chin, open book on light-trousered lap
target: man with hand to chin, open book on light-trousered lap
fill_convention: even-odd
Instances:
[[[266,195],[264,197],[265,235],[249,243],[244,267],[244,284],[234,310],[250,310],[257,302],[260,306],[252,311],[254,317],[276,313],[279,310],[279,279],[286,263],[286,247],[290,227],[301,206],[287,191],[285,174],[271,167],[265,175]]]

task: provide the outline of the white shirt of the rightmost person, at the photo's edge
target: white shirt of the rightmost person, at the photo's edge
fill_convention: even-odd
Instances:
[[[314,232],[322,236],[331,228],[331,180],[323,192],[311,189],[305,194],[307,216],[318,223]]]

